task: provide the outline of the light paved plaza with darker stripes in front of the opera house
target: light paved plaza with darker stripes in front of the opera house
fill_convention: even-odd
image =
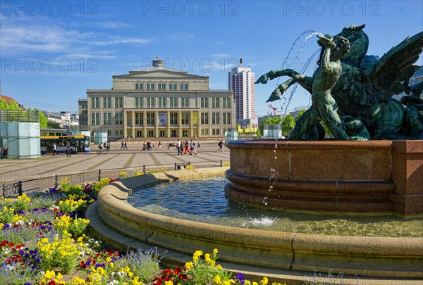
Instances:
[[[157,147],[157,141],[154,141]],[[111,143],[109,153],[97,155],[97,146],[92,145],[91,153],[78,153],[71,158],[66,153],[60,156],[44,154],[41,158],[0,160],[0,186],[21,181],[23,193],[31,191],[44,191],[54,187],[56,175],[60,179],[68,177],[72,184],[97,181],[99,170],[101,177],[118,177],[119,172],[125,171],[131,175],[136,170],[145,171],[161,170],[167,167],[173,170],[175,163],[188,165],[195,168],[214,167],[222,163],[229,163],[229,149],[224,147],[224,153],[220,151],[217,141],[204,141],[201,148],[197,149],[197,155],[177,155],[175,147],[166,148],[166,142],[162,142],[162,149],[142,151],[142,141],[129,141],[128,150],[121,150],[119,141]],[[9,187],[10,188],[10,187]],[[0,189],[1,191],[1,189]],[[9,191],[8,191],[9,192]],[[1,192],[0,192],[1,196]],[[16,195],[8,195],[16,196]]]

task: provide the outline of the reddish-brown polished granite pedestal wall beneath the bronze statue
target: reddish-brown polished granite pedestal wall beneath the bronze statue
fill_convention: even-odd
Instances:
[[[232,141],[226,195],[294,210],[423,213],[423,140]]]

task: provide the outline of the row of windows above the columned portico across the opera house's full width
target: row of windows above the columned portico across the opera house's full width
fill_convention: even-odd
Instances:
[[[123,97],[113,97],[114,108],[123,108]],[[156,100],[157,98],[157,100]],[[168,98],[168,100],[167,100]],[[99,108],[100,98],[90,97],[91,108]],[[102,97],[103,108],[111,108],[112,97]],[[179,99],[179,100],[178,100]],[[212,97],[212,108],[231,108],[231,98]],[[157,105],[156,105],[157,104]],[[135,97],[135,108],[188,108],[190,97]],[[201,108],[209,108],[209,98],[200,99]]]

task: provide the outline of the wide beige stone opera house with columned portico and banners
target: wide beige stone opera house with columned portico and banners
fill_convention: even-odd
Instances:
[[[88,89],[87,125],[80,129],[122,138],[223,137],[233,127],[233,92],[210,90],[209,77],[153,66],[113,75],[112,89]],[[80,115],[80,118],[83,118]],[[82,122],[82,121],[81,121]]]

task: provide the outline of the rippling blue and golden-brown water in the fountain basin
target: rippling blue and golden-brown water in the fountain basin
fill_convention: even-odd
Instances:
[[[301,213],[255,208],[225,197],[224,178],[157,184],[128,202],[149,213],[230,227],[344,236],[423,236],[423,217]]]

